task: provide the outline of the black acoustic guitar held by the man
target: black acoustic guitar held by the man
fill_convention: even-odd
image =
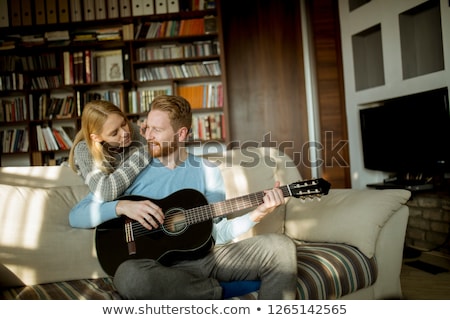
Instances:
[[[324,179],[298,181],[280,187],[284,197],[316,198],[328,194],[330,183]],[[198,259],[214,246],[213,219],[257,207],[264,191],[208,204],[193,189],[177,191],[161,200],[143,196],[123,196],[121,200],[150,200],[164,212],[164,223],[148,230],[139,222],[119,217],[96,228],[95,242],[100,265],[114,275],[127,259],[148,258],[170,265],[178,260]]]

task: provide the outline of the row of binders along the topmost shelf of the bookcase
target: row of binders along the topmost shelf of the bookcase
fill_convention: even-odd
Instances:
[[[214,0],[0,0],[0,28],[117,19],[213,8],[215,8]]]

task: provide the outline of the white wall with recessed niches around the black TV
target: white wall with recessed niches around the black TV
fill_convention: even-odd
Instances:
[[[416,92],[450,87],[450,6],[440,0],[445,70],[403,80],[398,15],[424,0],[371,0],[350,12],[348,0],[339,0],[345,100],[348,123],[352,188],[382,182],[386,173],[364,168],[359,127],[359,106]],[[352,35],[381,24],[385,84],[356,91]]]

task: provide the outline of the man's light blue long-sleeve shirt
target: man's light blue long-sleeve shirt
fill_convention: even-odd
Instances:
[[[174,169],[165,167],[158,159],[152,159],[124,195],[141,195],[150,199],[163,199],[181,189],[195,189],[208,203],[225,200],[225,187],[219,168],[203,158],[189,155],[186,161]],[[69,222],[76,228],[94,228],[117,218],[118,200],[104,202],[92,193],[81,200],[69,214]],[[217,219],[213,224],[213,237],[223,244],[243,234],[255,223],[249,215],[234,219]]]

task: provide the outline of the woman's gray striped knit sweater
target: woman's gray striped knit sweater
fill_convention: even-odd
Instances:
[[[75,146],[74,156],[78,172],[90,191],[100,200],[111,201],[122,195],[149,164],[147,142],[134,124],[132,141],[129,147],[120,150],[110,150],[104,146],[104,151],[114,158],[107,164],[112,169],[111,173],[105,173],[96,167],[85,141]]]

